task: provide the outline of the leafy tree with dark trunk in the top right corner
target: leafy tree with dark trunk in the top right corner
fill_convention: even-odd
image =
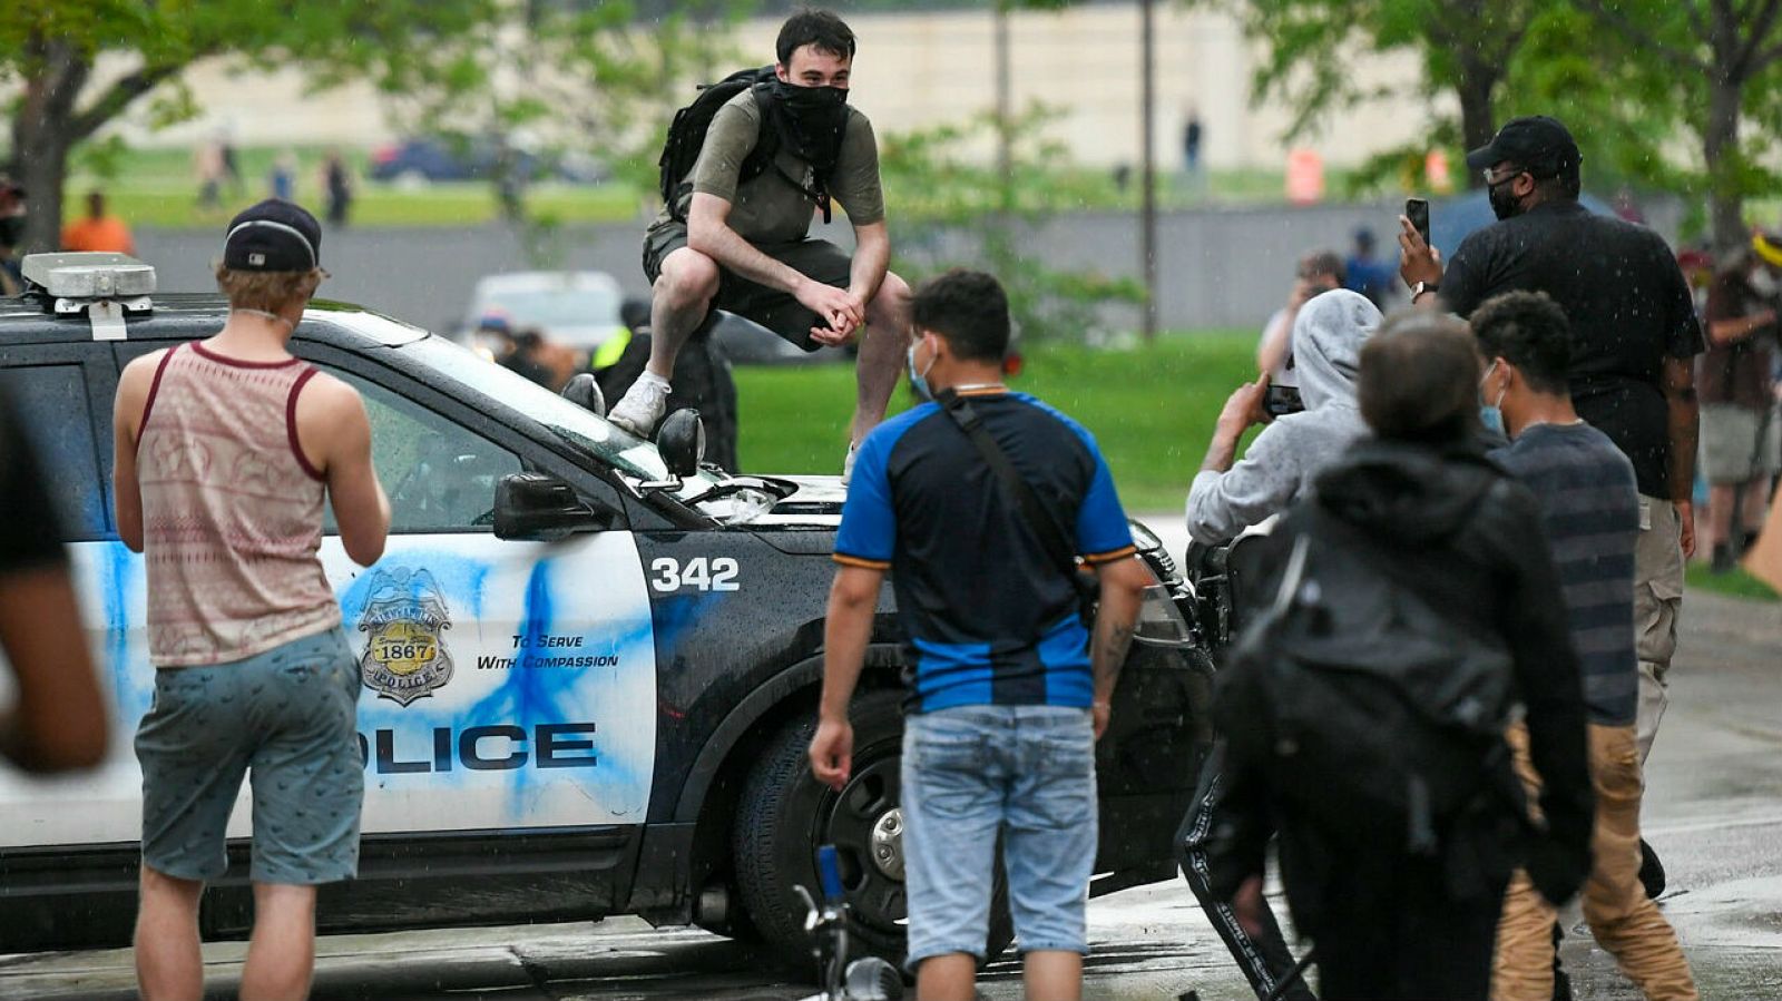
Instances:
[[[1597,66],[1632,77],[1693,134],[1705,169],[1714,244],[1745,240],[1745,196],[1771,192],[1764,160],[1782,130],[1782,0],[1574,0],[1598,37]],[[1748,125],[1755,128],[1746,128]],[[1648,139],[1650,142],[1650,139]],[[1650,153],[1648,153],[1650,157]]]

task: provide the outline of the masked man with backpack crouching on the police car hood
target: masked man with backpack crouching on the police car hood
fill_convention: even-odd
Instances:
[[[805,351],[859,333],[859,395],[843,477],[886,411],[909,344],[909,285],[891,237],[873,126],[848,107],[855,39],[829,11],[781,27],[773,66],[732,73],[675,114],[661,155],[663,212],[643,235],[650,362],[611,413],[633,435],[661,420],[675,354],[713,310],[748,317]],[[811,239],[841,205],[854,255]]]

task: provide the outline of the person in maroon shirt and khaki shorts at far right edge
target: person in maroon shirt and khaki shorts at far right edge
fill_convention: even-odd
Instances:
[[[1729,255],[1707,290],[1707,353],[1695,370],[1702,394],[1702,472],[1707,476],[1707,543],[1713,570],[1737,565],[1764,524],[1770,477],[1782,467],[1771,358],[1777,347],[1777,267],[1762,235]],[[1734,525],[1734,511],[1739,524]],[[1737,534],[1734,534],[1737,533]]]

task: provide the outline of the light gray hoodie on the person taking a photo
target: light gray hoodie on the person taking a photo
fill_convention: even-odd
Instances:
[[[1189,534],[1215,545],[1312,493],[1312,481],[1367,435],[1354,404],[1361,344],[1379,328],[1379,310],[1336,289],[1313,297],[1294,319],[1294,369],[1306,410],[1278,417],[1228,472],[1203,470],[1189,488]]]

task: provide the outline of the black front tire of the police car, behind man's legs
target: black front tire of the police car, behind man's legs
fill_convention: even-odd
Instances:
[[[834,844],[839,853],[855,951],[903,962],[907,898],[902,851],[895,850],[889,866],[877,864],[871,855],[871,834],[896,809],[902,789],[903,714],[898,705],[895,691],[855,696],[850,712],[854,775],[841,793],[811,777],[814,712],[800,712],[786,723],[748,773],[732,828],[736,883],[748,923],[759,930],[768,949],[793,967],[809,965],[813,948],[804,930],[804,901],[793,887],[802,885],[818,896],[816,850],[822,844]],[[998,853],[987,958],[1001,955],[1012,939],[1009,889]]]

